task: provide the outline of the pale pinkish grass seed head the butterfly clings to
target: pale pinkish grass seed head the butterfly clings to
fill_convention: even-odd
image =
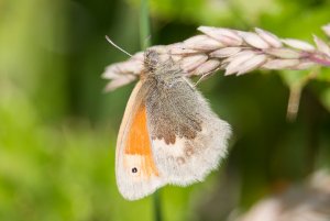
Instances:
[[[243,75],[254,69],[307,69],[315,65],[330,66],[330,46],[317,36],[315,45],[255,29],[243,32],[200,26],[202,33],[184,42],[153,46],[178,62],[187,77],[205,77],[219,69],[224,75]],[[330,24],[322,27],[330,36]],[[130,59],[107,67],[102,77],[111,80],[106,90],[113,90],[136,79],[143,71],[143,52]]]

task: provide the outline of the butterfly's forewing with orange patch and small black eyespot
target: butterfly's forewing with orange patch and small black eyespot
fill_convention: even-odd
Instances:
[[[156,168],[146,123],[142,82],[135,86],[122,120],[117,141],[116,177],[125,199],[135,200],[164,185]]]

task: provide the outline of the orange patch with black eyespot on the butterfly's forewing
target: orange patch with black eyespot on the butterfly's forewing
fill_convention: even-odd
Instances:
[[[138,109],[128,134],[124,148],[125,167],[132,173],[151,177],[158,176],[158,170],[153,159],[151,141],[146,126],[146,109],[142,106]]]

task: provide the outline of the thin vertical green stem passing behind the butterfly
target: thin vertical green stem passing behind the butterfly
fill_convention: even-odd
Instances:
[[[141,0],[140,9],[140,44],[141,48],[145,49],[150,46],[150,20],[148,20],[148,2],[147,0]],[[162,221],[162,206],[160,191],[153,195],[154,205],[154,220]]]

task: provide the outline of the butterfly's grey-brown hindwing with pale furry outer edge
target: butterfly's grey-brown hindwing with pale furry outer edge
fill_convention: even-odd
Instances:
[[[230,126],[187,79],[160,84],[147,96],[146,110],[155,164],[166,183],[186,186],[218,167]]]

